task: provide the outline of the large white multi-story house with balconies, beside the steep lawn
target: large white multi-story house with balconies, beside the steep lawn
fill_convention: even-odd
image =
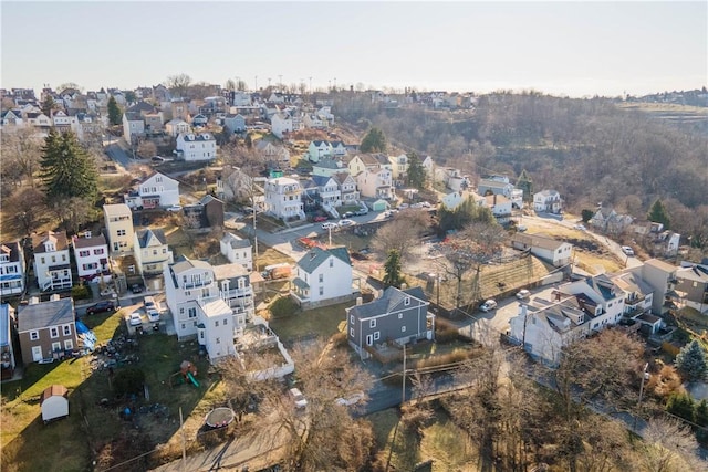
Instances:
[[[217,277],[208,262],[181,256],[164,272],[178,339],[196,337],[211,361],[236,355],[233,339],[243,333],[247,308],[252,312],[248,273],[239,264],[227,265]]]

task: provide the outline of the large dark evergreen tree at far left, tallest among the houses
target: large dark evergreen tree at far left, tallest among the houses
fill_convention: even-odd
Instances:
[[[42,147],[40,178],[49,202],[96,195],[98,174],[95,164],[71,132],[50,130]]]

